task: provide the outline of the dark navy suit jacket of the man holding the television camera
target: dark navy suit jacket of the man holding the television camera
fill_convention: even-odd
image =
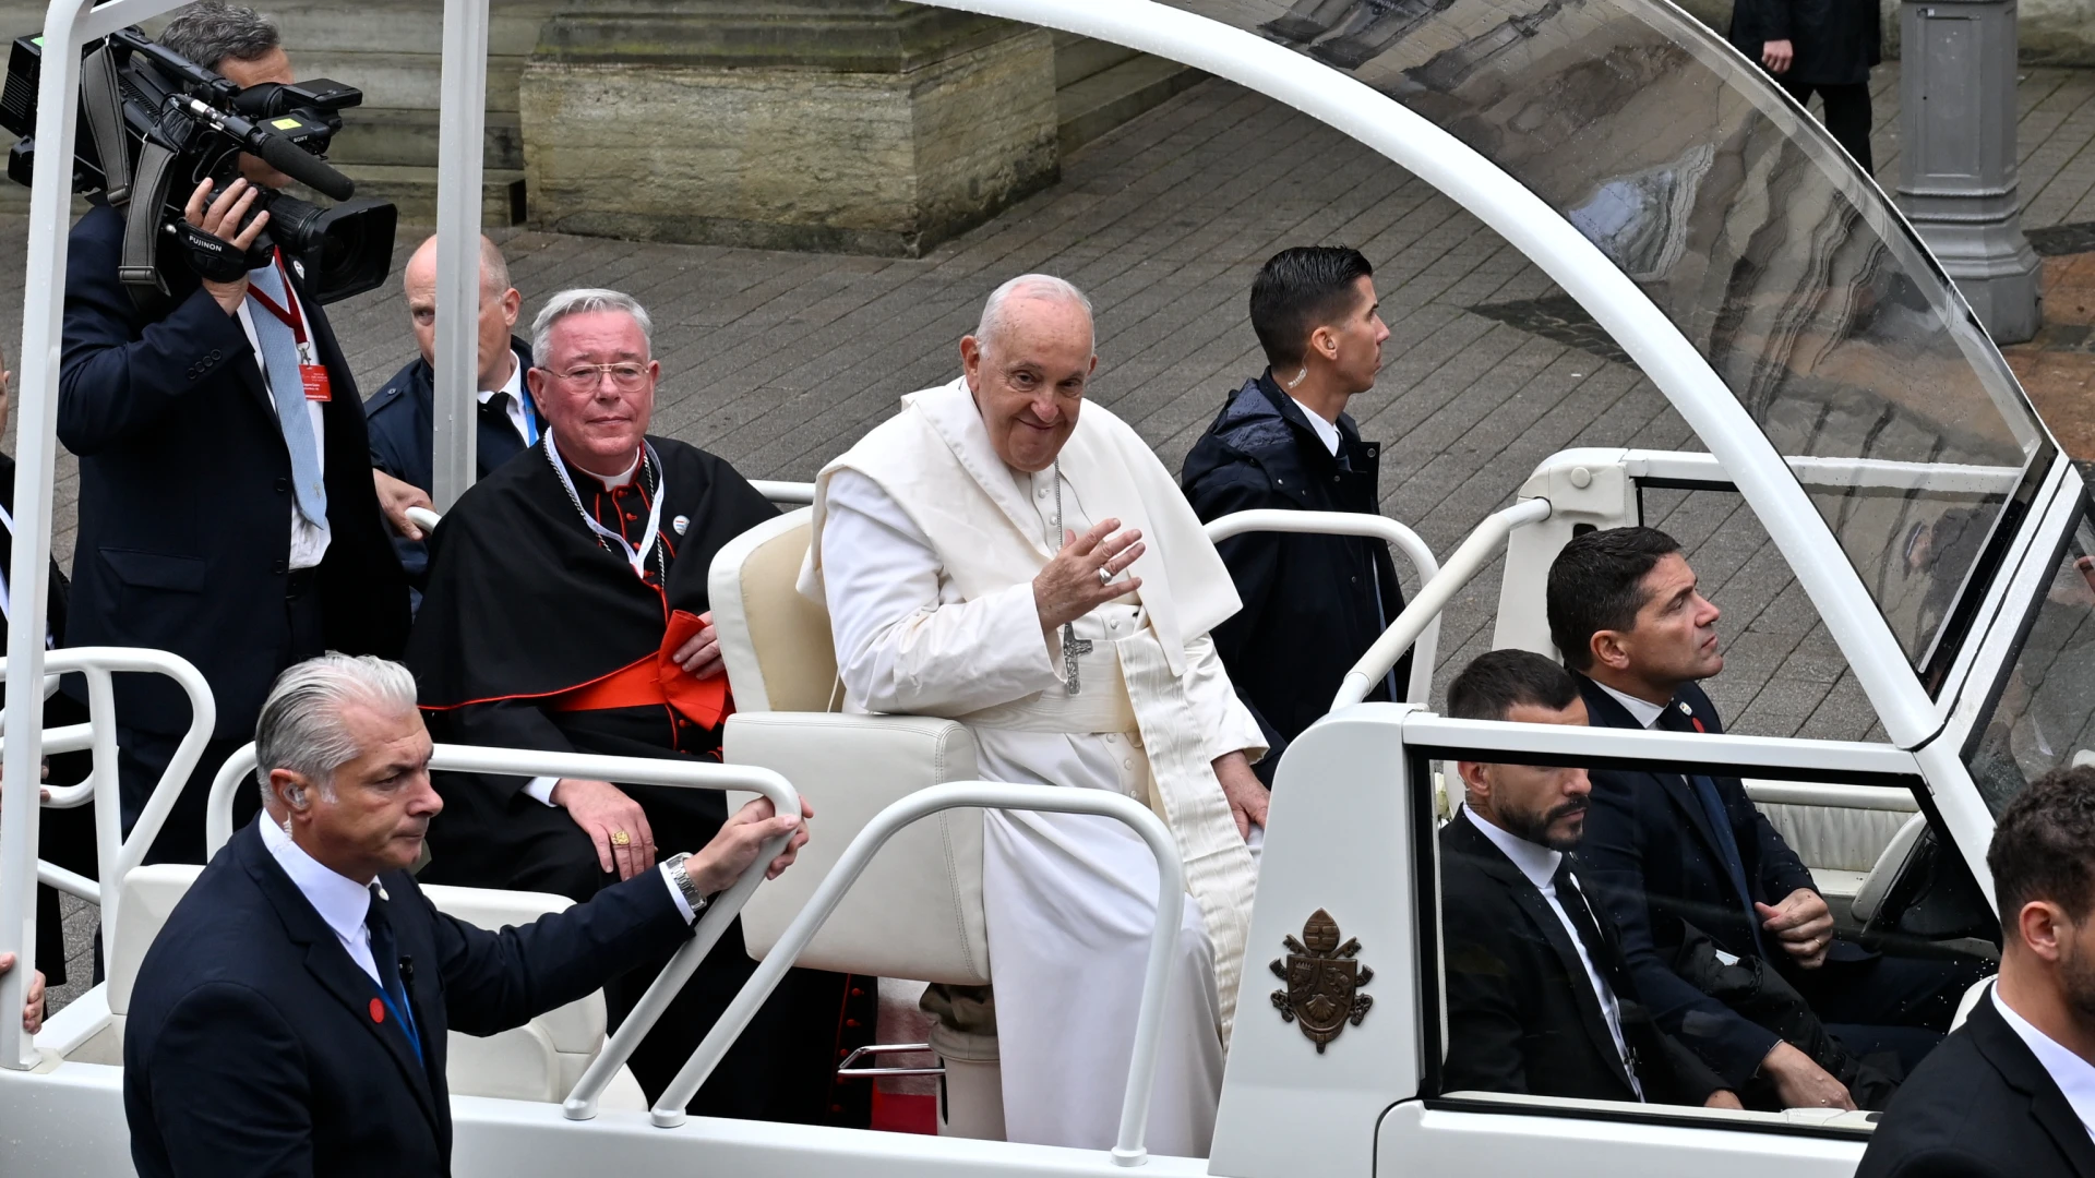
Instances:
[[[124,218],[96,205],[73,226],[59,363],[59,440],[80,455],[80,541],[67,639],[151,646],[212,683],[220,738],[247,738],[289,664],[291,451],[237,317],[161,256],[172,296],[138,310],[117,281]],[[398,658],[406,581],[371,486],[362,402],[300,270],[312,344],[333,384],[321,411],[331,541],[318,566],[325,639]],[[189,702],[157,675],[117,679],[117,715],[180,734]]]

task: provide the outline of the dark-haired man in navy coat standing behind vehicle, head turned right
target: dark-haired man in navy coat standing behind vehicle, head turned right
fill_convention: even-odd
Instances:
[[[1374,268],[1358,249],[1282,249],[1251,283],[1251,327],[1267,369],[1230,394],[1186,455],[1182,486],[1203,522],[1234,511],[1379,509],[1381,446],[1362,442],[1347,402],[1383,367]],[[1215,648],[1272,752],[1330,708],[1339,683],[1399,610],[1404,591],[1383,541],[1251,532],[1217,545],[1244,610],[1215,627]],[[1410,656],[1370,700],[1402,700]]]

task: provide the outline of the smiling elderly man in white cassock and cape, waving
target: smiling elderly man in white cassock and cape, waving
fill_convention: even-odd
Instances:
[[[1085,405],[1091,342],[1073,285],[997,289],[960,344],[966,375],[903,398],[817,476],[800,591],[830,608],[848,711],[957,719],[985,778],[1115,790],[1169,824],[1190,897],[1148,1144],[1207,1157],[1265,746],[1209,639],[1238,610],[1230,572],[1156,455]],[[1108,1149],[1156,864],[1106,817],[983,826],[1008,1138]]]

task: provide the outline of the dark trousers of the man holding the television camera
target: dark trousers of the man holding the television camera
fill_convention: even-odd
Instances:
[[[312,591],[312,581],[314,574],[310,568],[291,574],[283,602],[283,650],[289,652],[289,658],[277,669],[279,673],[293,662],[304,662],[327,650],[321,629],[321,597]],[[218,736],[203,746],[203,759],[197,761],[174,809],[168,811],[168,822],[161,824],[153,847],[145,855],[147,864],[201,864],[205,859],[203,811],[212,797],[212,780],[218,778],[218,769],[224,767],[226,759],[239,752],[249,740],[253,740],[253,732],[239,732]],[[145,813],[145,805],[153,797],[153,788],[159,786],[168,763],[174,761],[174,748],[180,742],[182,734],[117,725],[117,782],[124,797],[126,836],[138,824],[138,815]],[[251,780],[243,782],[239,792],[233,794],[233,828],[239,830],[260,809],[260,788]]]

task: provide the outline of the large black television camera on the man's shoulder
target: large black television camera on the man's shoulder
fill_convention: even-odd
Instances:
[[[8,176],[19,184],[29,184],[36,168],[42,42],[15,42],[0,90],[0,126],[23,136],[8,151]],[[398,222],[390,203],[350,199],[356,184],[323,157],[341,130],[339,111],[358,103],[362,92],[325,78],[243,88],[136,27],[117,29],[84,50],[71,187],[124,214],[122,279],[140,306],[168,293],[170,262],[233,281],[268,264],[277,247],[304,262],[312,298],[344,300],[385,281]],[[205,178],[224,191],[239,176],[241,153],[341,203],[318,208],[258,187],[247,216],[268,210],[270,220],[241,256],[182,212]]]

